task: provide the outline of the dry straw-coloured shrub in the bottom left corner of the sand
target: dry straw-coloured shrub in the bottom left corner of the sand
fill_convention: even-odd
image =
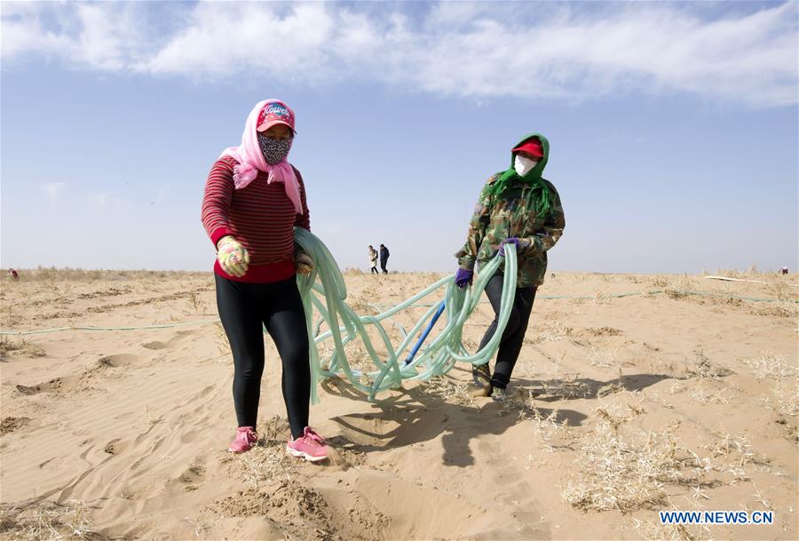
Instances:
[[[91,520],[82,501],[66,505],[44,501],[26,507],[0,510],[0,531],[10,540],[67,541],[103,539],[91,529]]]

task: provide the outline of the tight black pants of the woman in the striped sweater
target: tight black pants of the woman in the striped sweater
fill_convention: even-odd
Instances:
[[[296,278],[273,283],[233,282],[219,275],[216,279],[219,317],[233,352],[233,404],[239,426],[257,426],[265,325],[281,355],[281,386],[291,435],[299,437],[308,426],[311,364],[305,308]]]

